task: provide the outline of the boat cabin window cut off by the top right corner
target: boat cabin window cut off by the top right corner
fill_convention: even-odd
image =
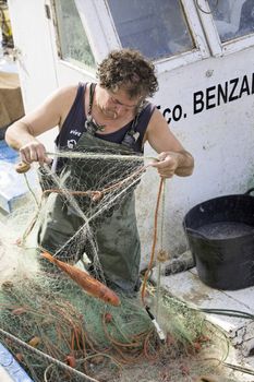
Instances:
[[[208,0],[221,43],[254,33],[253,0]]]

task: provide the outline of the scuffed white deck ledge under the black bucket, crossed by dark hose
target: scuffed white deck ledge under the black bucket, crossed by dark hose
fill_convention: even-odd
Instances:
[[[161,277],[161,287],[195,309],[232,309],[254,314],[254,287],[233,291],[213,289],[201,282],[195,268]],[[230,353],[225,362],[254,370],[254,356],[246,356],[254,347],[253,321],[218,314],[206,314],[206,318],[218,325],[229,339]],[[234,336],[234,332],[238,335]],[[234,380],[253,382],[253,375],[234,372]]]

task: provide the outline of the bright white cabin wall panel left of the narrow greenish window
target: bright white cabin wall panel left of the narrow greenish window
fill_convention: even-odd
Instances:
[[[44,1],[10,0],[10,17],[26,111],[56,86],[55,61]]]

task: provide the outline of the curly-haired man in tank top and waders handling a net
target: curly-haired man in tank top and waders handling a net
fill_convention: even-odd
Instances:
[[[157,168],[160,177],[191,175],[192,155],[169,130],[155,105],[146,100],[157,91],[153,63],[138,51],[116,50],[98,65],[97,76],[97,84],[78,84],[57,91],[37,110],[8,129],[5,140],[20,151],[22,160],[27,164],[39,162],[41,166],[49,164],[46,148],[36,136],[59,126],[58,150],[141,155],[148,141],[159,153],[158,162],[152,166]],[[97,165],[101,174],[110,172],[110,162],[100,159]],[[88,162],[84,160],[81,166],[75,160],[60,159],[55,160],[52,167],[64,187],[68,184],[73,189],[78,183],[80,190],[96,188],[98,175]],[[114,172],[121,177],[122,169]],[[112,179],[99,184],[104,189],[109,183]],[[64,196],[51,193],[39,229],[39,244],[66,261],[77,260],[85,251],[92,261],[98,260],[112,288],[125,293],[136,290],[141,250],[133,188],[129,191],[120,207],[110,207],[100,222],[95,219],[92,230],[87,229],[87,224],[83,229],[90,207],[84,198],[77,198],[77,202],[85,217],[75,207],[70,207]],[[80,243],[78,250],[73,247],[73,237]]]

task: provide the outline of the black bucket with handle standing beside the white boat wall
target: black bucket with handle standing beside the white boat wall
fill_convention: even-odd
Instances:
[[[184,217],[197,274],[213,288],[235,290],[254,285],[252,191],[205,201]]]

